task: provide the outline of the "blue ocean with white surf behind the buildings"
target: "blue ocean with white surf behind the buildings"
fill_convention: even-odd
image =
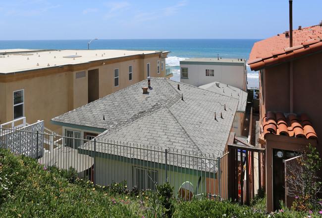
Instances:
[[[88,49],[90,40],[8,40],[0,41],[0,49]],[[166,59],[171,80],[180,81],[180,60],[192,57],[249,58],[254,43],[260,40],[233,39],[159,39],[159,40],[93,40],[90,49],[167,50]],[[259,87],[258,72],[247,65],[248,87]]]

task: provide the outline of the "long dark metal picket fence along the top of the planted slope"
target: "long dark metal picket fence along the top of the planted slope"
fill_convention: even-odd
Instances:
[[[174,197],[180,195],[183,199],[190,199],[202,193],[212,198],[227,198],[226,154],[215,157],[129,142],[96,138],[86,140],[43,131],[2,129],[0,147],[17,154],[22,154],[20,151],[27,148],[41,148],[43,151],[38,149],[36,155],[24,154],[36,158],[47,167],[56,166],[65,170],[71,170],[72,167],[79,178],[89,179],[94,185],[107,186],[112,182],[126,181],[129,189],[155,190],[157,184],[168,181],[174,186]],[[36,142],[25,140],[24,137],[36,138]],[[54,137],[55,140],[52,139]],[[80,146],[74,149],[72,146],[75,144]],[[16,145],[19,148],[12,150]]]

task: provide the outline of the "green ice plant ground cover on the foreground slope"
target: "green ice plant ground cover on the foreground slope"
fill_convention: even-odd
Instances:
[[[155,193],[128,190],[126,183],[94,187],[91,181],[74,180],[75,173],[44,167],[32,158],[0,149],[0,218],[163,217],[164,208]],[[173,218],[314,218],[322,214],[322,211],[294,212],[284,207],[266,213],[263,201],[251,207],[206,198],[167,201],[173,205]]]

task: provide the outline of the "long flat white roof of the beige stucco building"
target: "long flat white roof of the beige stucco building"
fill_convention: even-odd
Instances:
[[[161,52],[169,53],[170,51],[2,49],[0,50],[0,74]]]

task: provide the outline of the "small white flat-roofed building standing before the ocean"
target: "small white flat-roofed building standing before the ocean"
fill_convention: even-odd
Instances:
[[[219,82],[246,91],[246,59],[190,58],[180,61],[180,82],[196,87]]]

